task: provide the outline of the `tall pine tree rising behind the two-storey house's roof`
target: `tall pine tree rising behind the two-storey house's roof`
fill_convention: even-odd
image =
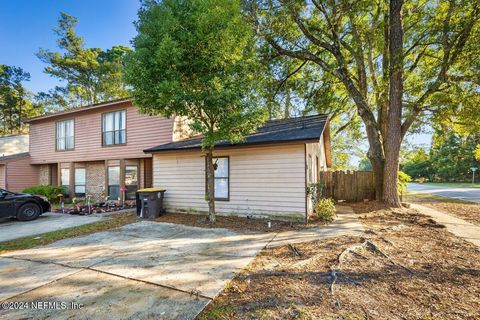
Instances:
[[[106,51],[86,48],[83,38],[75,32],[76,24],[75,17],[62,12],[54,29],[60,52],[40,49],[37,53],[38,58],[48,64],[45,73],[65,83],[40,93],[38,100],[46,107],[72,108],[126,97],[123,58],[130,49],[124,46]]]

